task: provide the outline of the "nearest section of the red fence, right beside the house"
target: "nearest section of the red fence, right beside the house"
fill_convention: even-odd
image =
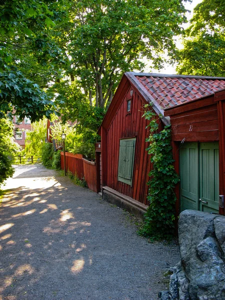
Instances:
[[[83,158],[83,172],[88,188],[97,192],[97,173],[95,163]]]

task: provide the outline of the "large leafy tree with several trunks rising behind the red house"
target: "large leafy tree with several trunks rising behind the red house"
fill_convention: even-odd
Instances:
[[[174,51],[185,9],[180,0],[72,1],[64,36],[69,68],[92,106],[103,108],[124,71],[142,69],[141,57],[160,67],[161,54]]]

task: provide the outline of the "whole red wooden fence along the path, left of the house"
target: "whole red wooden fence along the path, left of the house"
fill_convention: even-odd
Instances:
[[[61,152],[61,169],[64,169],[63,152]],[[79,179],[84,178],[88,188],[98,192],[95,162],[83,158],[81,154],[65,152],[65,169],[76,174]]]

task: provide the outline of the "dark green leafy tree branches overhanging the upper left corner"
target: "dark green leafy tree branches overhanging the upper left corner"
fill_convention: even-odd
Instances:
[[[55,22],[61,21],[61,2],[6,0],[0,4],[0,117],[13,107],[21,118],[31,121],[53,112],[53,102],[37,83],[46,87],[54,77],[46,65],[54,74],[61,61],[61,49],[50,34]],[[40,71],[29,74],[30,67]]]

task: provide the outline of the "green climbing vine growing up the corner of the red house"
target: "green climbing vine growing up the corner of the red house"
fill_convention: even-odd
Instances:
[[[176,197],[173,188],[179,180],[172,164],[170,125],[158,132],[158,119],[153,110],[146,110],[143,116],[150,121],[150,135],[146,139],[149,146],[146,150],[153,169],[149,172],[147,183],[149,206],[139,233],[151,239],[169,239],[174,234]]]

